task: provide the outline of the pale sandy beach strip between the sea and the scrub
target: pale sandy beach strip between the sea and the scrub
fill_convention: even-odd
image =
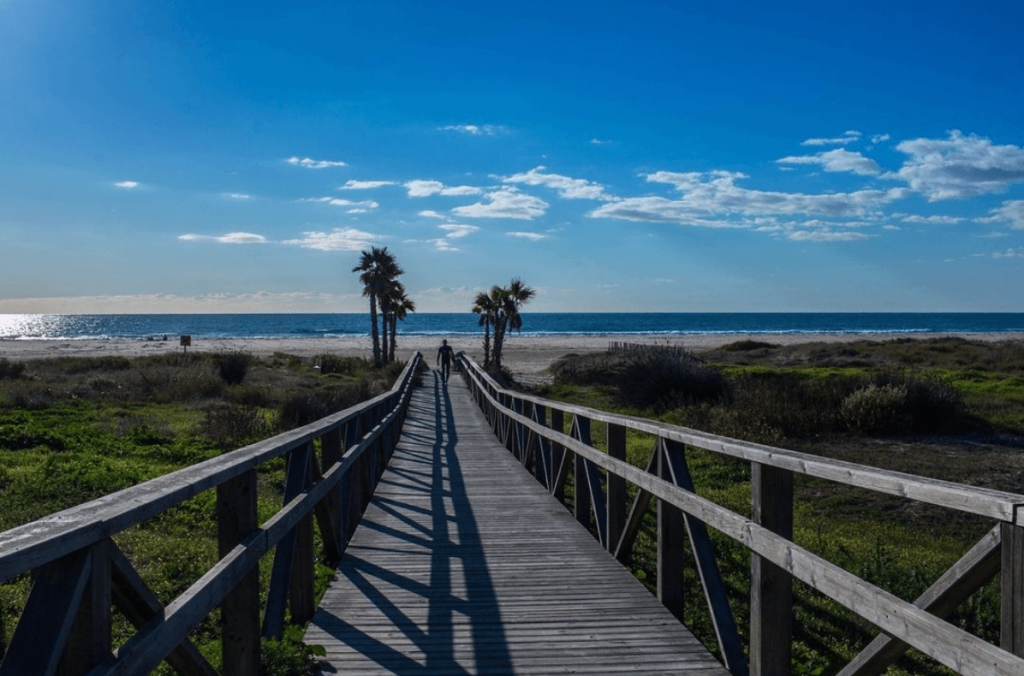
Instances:
[[[543,380],[541,374],[556,360],[571,352],[605,350],[613,342],[629,342],[657,345],[678,345],[694,352],[714,349],[738,340],[760,340],[774,344],[796,344],[810,342],[850,342],[855,340],[894,340],[914,337],[920,339],[940,338],[959,335],[971,340],[997,342],[1004,340],[1024,340],[1019,333],[930,333],[907,336],[900,334],[695,334],[685,336],[637,336],[637,335],[559,335],[559,336],[518,336],[506,339],[504,363],[516,377],[524,382]],[[406,360],[421,351],[428,364],[434,361],[437,346],[444,336],[400,336],[398,340],[399,358]],[[464,351],[471,358],[483,361],[483,337],[453,335],[446,337],[456,351]],[[146,356],[181,352],[177,338],[168,340],[132,339],[88,339],[88,340],[0,340],[0,357],[13,361],[46,358],[55,356]],[[284,352],[298,356],[315,356],[332,353],[343,356],[370,358],[372,348],[369,336],[343,338],[229,338],[194,339],[190,352],[247,352],[257,356],[269,356]]]

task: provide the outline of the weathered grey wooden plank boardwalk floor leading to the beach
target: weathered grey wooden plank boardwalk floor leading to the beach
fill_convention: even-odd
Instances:
[[[498,442],[460,378],[424,380],[306,632],[324,673],[728,675]]]

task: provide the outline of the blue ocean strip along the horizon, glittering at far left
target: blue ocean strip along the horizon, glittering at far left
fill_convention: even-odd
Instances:
[[[522,335],[1024,333],[1024,312],[524,312]],[[475,335],[470,312],[417,312],[407,336]],[[0,340],[332,338],[365,336],[368,313],[337,314],[0,314]]]

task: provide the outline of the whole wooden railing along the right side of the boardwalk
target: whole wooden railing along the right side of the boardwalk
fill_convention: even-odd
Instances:
[[[793,586],[799,580],[871,623],[881,634],[841,672],[879,674],[909,646],[958,674],[1024,674],[1024,496],[828,460],[641,418],[613,415],[503,389],[473,362],[461,361],[473,396],[502,442],[552,495],[564,499],[572,474],[577,519],[609,553],[629,560],[650,500],[657,499],[657,595],[682,618],[683,554],[693,551],[726,668],[737,676],[788,674]],[[607,453],[591,423],[606,425]],[[569,433],[564,433],[568,424]],[[627,430],[653,437],[646,469],[625,461]],[[686,447],[751,464],[752,516],[696,495]],[[984,516],[995,526],[909,602],[793,542],[793,481],[800,473]],[[636,487],[627,509],[627,482]],[[708,536],[711,526],[751,550],[749,662]],[[945,622],[1001,572],[1000,645]]]

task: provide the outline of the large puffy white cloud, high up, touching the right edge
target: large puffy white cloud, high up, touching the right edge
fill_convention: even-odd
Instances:
[[[945,139],[915,138],[896,150],[910,156],[894,177],[932,202],[1005,192],[1024,181],[1024,149],[953,130]]]

